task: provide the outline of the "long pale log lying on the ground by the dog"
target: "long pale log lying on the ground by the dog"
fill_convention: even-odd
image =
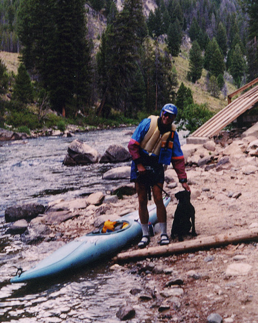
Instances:
[[[149,247],[146,249],[121,252],[118,253],[117,256],[113,258],[113,260],[119,262],[137,258],[171,255],[174,253],[183,253],[193,250],[219,247],[230,243],[238,243],[241,241],[250,240],[258,240],[258,228],[252,228],[238,232],[229,232],[215,236],[197,237],[194,240],[171,243],[166,246]]]

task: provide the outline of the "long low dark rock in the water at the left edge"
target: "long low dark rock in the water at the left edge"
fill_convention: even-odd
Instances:
[[[44,213],[45,206],[41,204],[25,204],[21,206],[11,206],[5,210],[6,222],[15,222],[17,220],[31,220],[36,218],[38,214]]]

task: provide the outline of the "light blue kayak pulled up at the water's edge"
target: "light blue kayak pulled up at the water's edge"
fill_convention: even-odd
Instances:
[[[163,201],[167,206],[170,198],[165,197]],[[150,222],[155,224],[157,222],[156,205],[148,206],[148,210]],[[120,217],[117,223],[122,223],[123,228],[106,233],[101,233],[100,229],[75,239],[57,249],[30,270],[13,277],[11,283],[57,276],[64,271],[87,266],[101,258],[110,259],[142,234],[138,210]]]

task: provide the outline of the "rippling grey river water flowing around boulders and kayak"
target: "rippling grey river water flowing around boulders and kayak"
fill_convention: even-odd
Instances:
[[[24,245],[19,235],[5,232],[5,209],[22,203],[42,203],[55,199],[107,192],[122,183],[102,180],[109,169],[131,163],[62,165],[68,145],[74,139],[84,141],[100,154],[111,144],[127,147],[135,127],[77,133],[72,138],[39,137],[25,143],[0,144],[0,321],[2,322],[119,322],[121,305],[135,303],[133,287],[140,288],[140,277],[126,271],[111,271],[110,263],[99,263],[67,277],[44,283],[10,284],[18,267],[25,270],[52,253],[62,242]],[[181,144],[183,134],[179,134]],[[128,180],[123,181],[128,183]],[[143,287],[144,288],[144,287]],[[140,304],[132,323],[149,318],[155,321],[148,304]]]

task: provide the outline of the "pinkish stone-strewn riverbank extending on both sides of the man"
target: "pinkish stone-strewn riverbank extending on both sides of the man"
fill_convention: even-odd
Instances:
[[[257,138],[258,127],[253,126],[246,131],[221,133],[204,145],[182,146],[198,238],[258,227]],[[99,192],[87,198],[55,201],[33,216],[33,220],[26,220],[28,228],[21,238],[32,238],[24,240],[26,243],[68,242],[90,232],[105,220],[117,219],[138,208],[137,196],[129,187],[132,195],[125,195],[120,189],[122,199]],[[167,207],[169,232],[177,205],[174,194],[181,190],[170,167],[164,189],[172,197]],[[7,223],[5,226],[11,228]],[[35,228],[42,231],[35,233]],[[155,230],[150,247],[158,246],[158,226]],[[189,239],[195,238],[184,237]],[[171,241],[174,242],[177,240]],[[136,249],[135,245],[130,248]],[[137,317],[144,306],[154,310],[160,322],[258,322],[257,259],[256,242],[246,241],[191,253],[111,263],[110,268],[115,271],[140,276],[145,286],[132,289],[134,301],[130,298],[117,316]]]

